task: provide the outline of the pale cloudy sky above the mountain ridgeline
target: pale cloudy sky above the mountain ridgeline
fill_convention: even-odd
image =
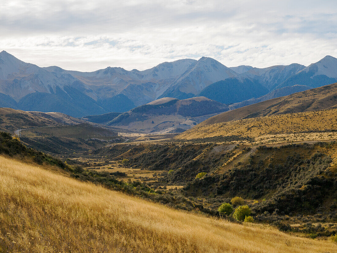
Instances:
[[[335,0],[0,1],[0,51],[79,71],[202,56],[308,65],[337,57],[336,12]]]

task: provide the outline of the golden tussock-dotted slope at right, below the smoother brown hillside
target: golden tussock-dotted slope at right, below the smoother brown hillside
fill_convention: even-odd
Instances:
[[[337,139],[337,109],[280,114],[197,125],[176,139],[216,136],[252,137],[256,143]],[[311,132],[311,133],[308,133]]]

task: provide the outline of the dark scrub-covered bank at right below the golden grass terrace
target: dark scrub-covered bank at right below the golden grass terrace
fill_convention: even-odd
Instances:
[[[333,141],[268,146],[144,143],[104,147],[93,157],[127,159],[124,166],[129,169],[153,171],[155,181],[147,181],[151,188],[184,186],[181,194],[213,215],[223,202],[240,196],[256,222],[315,238],[337,234],[336,150]],[[205,175],[197,178],[199,173]]]

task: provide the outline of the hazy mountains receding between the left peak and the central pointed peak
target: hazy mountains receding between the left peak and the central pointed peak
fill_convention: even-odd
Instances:
[[[192,59],[164,62],[144,71],[127,71],[121,67],[94,72],[66,71],[56,66],[45,69],[58,77],[73,76],[90,87],[93,94],[88,95],[95,100],[98,97],[104,108],[124,112],[156,100],[194,62]],[[118,101],[121,96],[122,100]]]

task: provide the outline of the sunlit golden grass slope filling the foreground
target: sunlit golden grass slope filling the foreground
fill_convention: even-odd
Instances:
[[[337,252],[332,242],[179,212],[0,157],[2,252]]]

